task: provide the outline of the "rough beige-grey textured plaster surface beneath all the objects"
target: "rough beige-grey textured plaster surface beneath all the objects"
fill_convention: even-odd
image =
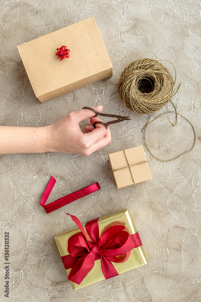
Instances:
[[[91,16],[108,50],[113,76],[41,104],[16,46]],[[107,113],[132,117],[112,125],[112,143],[87,158],[59,153],[0,156],[1,301],[7,301],[5,231],[10,234],[11,301],[201,301],[200,17],[200,0],[0,1],[2,125],[43,126],[95,104],[102,104]],[[176,85],[182,86],[173,101],[196,128],[193,151],[171,162],[150,155],[141,133],[148,116],[128,111],[116,91],[121,71],[141,57],[174,63]],[[183,118],[177,127],[161,118],[147,135],[153,152],[166,159],[193,144],[192,129]],[[108,153],[140,144],[152,180],[118,190]],[[51,175],[57,179],[52,201],[96,181],[101,190],[47,215],[39,202]],[[73,292],[54,240],[74,226],[64,211],[84,223],[125,207],[134,218],[148,264]]]

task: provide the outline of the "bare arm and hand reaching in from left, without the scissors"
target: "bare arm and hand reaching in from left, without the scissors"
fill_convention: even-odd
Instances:
[[[93,107],[102,111],[102,106]],[[61,152],[89,156],[111,143],[109,127],[93,124],[101,121],[89,109],[71,112],[52,125],[45,127],[0,126],[0,154]],[[90,117],[91,126],[83,133],[79,123]]]

